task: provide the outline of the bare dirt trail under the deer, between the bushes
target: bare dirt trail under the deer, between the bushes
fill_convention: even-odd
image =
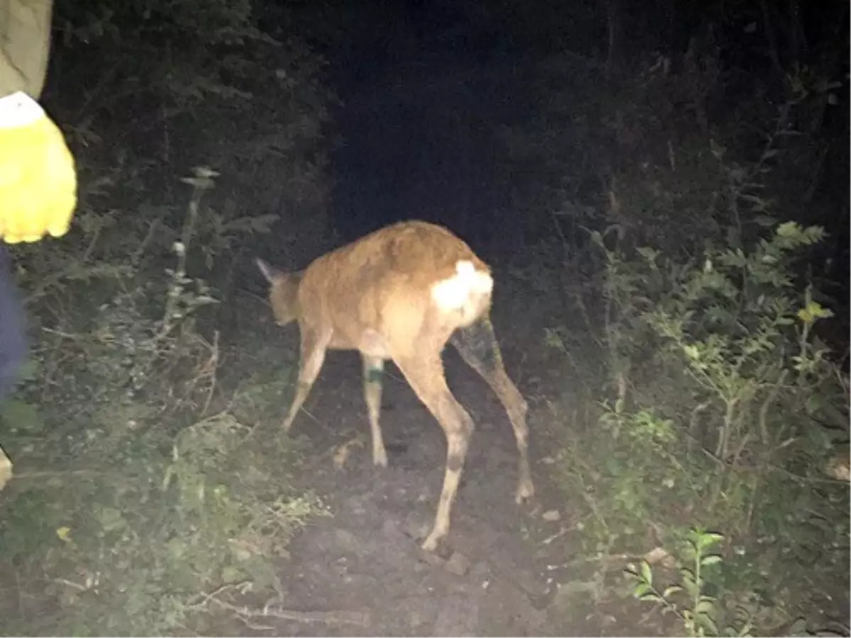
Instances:
[[[269,348],[295,345],[295,328],[287,328],[286,334],[278,331],[269,326],[265,332]],[[280,567],[285,589],[281,607],[300,614],[316,612],[316,618],[276,624],[282,628],[277,635],[618,635],[617,629],[625,628],[613,626],[614,618],[589,597],[568,600],[557,593],[556,583],[570,577],[553,566],[576,556],[567,537],[542,542],[557,535],[564,521],[547,522],[540,516],[552,506],[547,502],[555,501],[547,495],[540,468],[540,439],[533,439],[531,450],[540,501],[535,512],[514,503],[517,452],[500,403],[453,350],[447,350],[444,360],[449,385],[476,420],[477,431],[448,546],[442,556],[433,556],[421,551],[419,543],[433,520],[443,480],[443,431],[389,366],[382,424],[390,467],[374,469],[357,354],[328,356],[292,436],[307,441],[306,464],[295,481],[315,489],[333,516],[315,519],[294,538],[291,559]],[[513,363],[509,356],[509,370],[515,369]],[[523,379],[517,381],[523,387]],[[543,414],[530,410],[533,432]],[[348,457],[338,470],[334,453],[346,443]]]

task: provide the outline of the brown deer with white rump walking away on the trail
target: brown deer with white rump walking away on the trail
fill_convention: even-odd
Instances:
[[[278,325],[299,322],[299,380],[283,421],[289,431],[322,368],[325,352],[359,350],[372,430],[373,463],[386,467],[379,424],[381,375],[391,359],[443,427],[446,471],[437,518],[422,544],[433,551],[449,531],[473,421],[449,391],[442,352],[451,341],[505,406],[520,453],[515,500],[534,494],[528,464],[528,410],[502,364],[489,314],[494,279],[467,244],[442,226],[404,221],[319,257],[297,273],[257,259],[271,284]]]

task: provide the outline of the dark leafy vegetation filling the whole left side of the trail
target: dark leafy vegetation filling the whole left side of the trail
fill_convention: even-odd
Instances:
[[[323,60],[257,12],[56,5],[44,101],[80,192],[66,237],[14,247],[32,349],[2,411],[3,635],[230,631],[325,511],[221,374],[248,250],[297,231],[311,253],[325,231]]]

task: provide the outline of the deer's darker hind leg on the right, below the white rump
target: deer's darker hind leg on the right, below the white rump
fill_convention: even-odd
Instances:
[[[494,390],[508,413],[508,419],[514,429],[514,438],[517,440],[517,452],[520,454],[515,501],[518,504],[523,503],[534,496],[534,483],[528,461],[528,404],[505,373],[494,326],[490,318],[485,316],[468,328],[456,330],[450,341],[467,365],[479,373]]]

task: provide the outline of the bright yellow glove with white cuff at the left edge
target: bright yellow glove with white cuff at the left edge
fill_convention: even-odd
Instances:
[[[0,98],[0,239],[65,235],[76,207],[77,171],[60,129],[29,95]]]

